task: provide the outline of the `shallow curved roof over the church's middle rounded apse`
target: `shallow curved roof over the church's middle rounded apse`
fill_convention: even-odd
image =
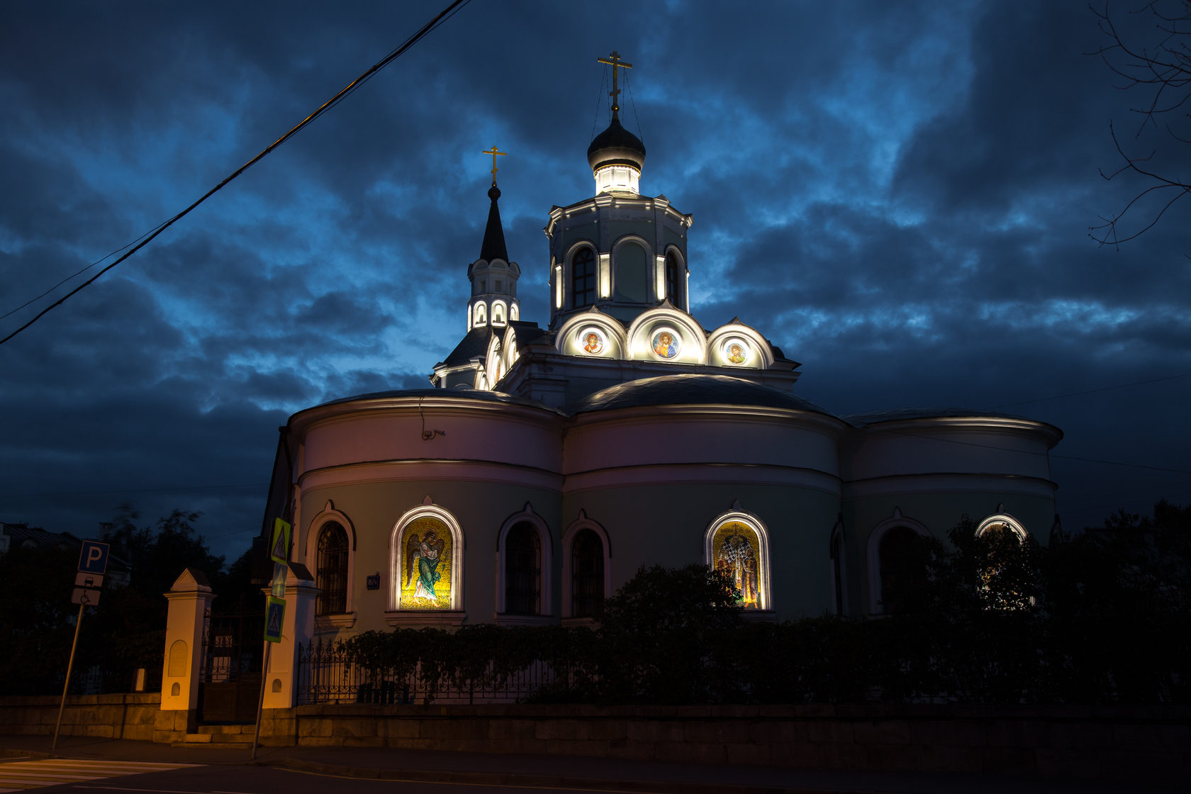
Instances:
[[[644,377],[617,383],[590,394],[573,408],[574,413],[611,411],[651,405],[741,405],[765,408],[831,413],[813,402],[740,377],[684,373]]]

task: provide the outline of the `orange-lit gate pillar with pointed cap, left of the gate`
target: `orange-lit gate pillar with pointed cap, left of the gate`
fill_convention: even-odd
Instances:
[[[169,593],[166,618],[166,659],[161,676],[161,711],[155,733],[194,731],[199,707],[202,632],[210,614],[211,583],[202,571],[187,568]],[[169,740],[162,736],[161,740]]]

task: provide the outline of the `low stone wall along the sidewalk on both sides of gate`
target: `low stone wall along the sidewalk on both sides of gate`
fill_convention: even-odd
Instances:
[[[156,694],[74,696],[62,732],[251,739],[251,725],[188,733],[186,712],[157,705]],[[57,707],[52,696],[0,698],[0,733],[50,734]],[[1191,707],[320,705],[266,709],[261,743],[1183,784]]]

